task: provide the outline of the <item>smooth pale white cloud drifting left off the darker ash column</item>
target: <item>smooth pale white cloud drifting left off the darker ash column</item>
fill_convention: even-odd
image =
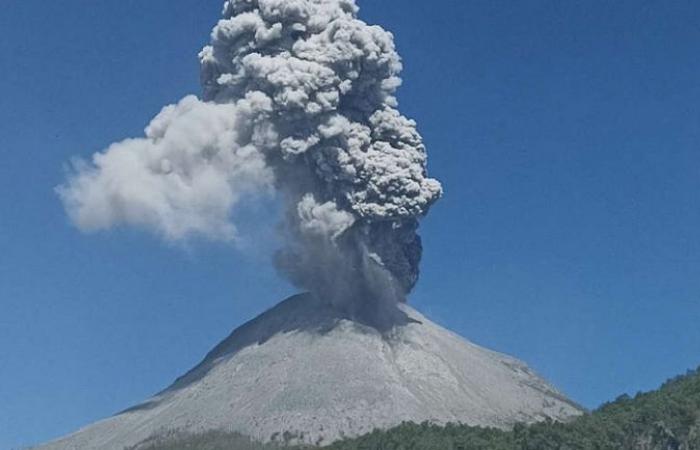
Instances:
[[[84,231],[135,225],[169,240],[234,239],[233,207],[274,180],[261,150],[241,138],[249,132],[243,111],[194,96],[163,108],[145,138],[77,164],[58,189],[69,216]]]

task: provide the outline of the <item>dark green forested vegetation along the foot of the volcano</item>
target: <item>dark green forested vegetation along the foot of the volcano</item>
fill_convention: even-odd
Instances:
[[[238,435],[159,439],[139,450],[272,450]],[[700,369],[659,390],[627,395],[570,423],[517,425],[512,431],[463,425],[403,424],[337,442],[327,450],[700,450]]]

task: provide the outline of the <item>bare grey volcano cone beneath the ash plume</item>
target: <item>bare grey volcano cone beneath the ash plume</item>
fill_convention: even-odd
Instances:
[[[580,414],[520,361],[400,308],[392,326],[370,327],[292,297],[152,399],[39,448],[122,450],[175,429],[315,444],[403,421],[508,427]]]

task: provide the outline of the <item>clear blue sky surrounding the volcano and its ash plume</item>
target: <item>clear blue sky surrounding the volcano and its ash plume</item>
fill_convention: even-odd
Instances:
[[[700,6],[360,0],[445,197],[412,303],[588,407],[700,364]],[[220,0],[11,0],[0,14],[0,448],[165,387],[294,289],[266,251],[85,236],[73,156],[198,93]],[[259,250],[259,249],[258,249]]]

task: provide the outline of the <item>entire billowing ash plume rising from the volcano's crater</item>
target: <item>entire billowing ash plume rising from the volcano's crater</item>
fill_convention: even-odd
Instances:
[[[354,0],[227,1],[200,53],[203,98],[78,164],[58,188],[73,222],[235,240],[239,200],[274,190],[287,205],[276,264],[291,281],[353,312],[404,301],[418,220],[441,187],[396,109],[393,37],[357,12]]]

